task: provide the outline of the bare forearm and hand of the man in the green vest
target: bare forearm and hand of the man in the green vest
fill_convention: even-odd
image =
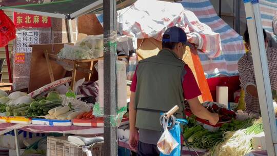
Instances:
[[[187,100],[190,110],[198,118],[208,120],[211,125],[215,125],[219,121],[219,114],[209,112],[203,105],[201,105],[198,97]]]

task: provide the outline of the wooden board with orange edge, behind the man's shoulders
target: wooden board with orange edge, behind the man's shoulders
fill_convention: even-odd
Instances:
[[[162,49],[162,42],[157,41],[154,38],[144,38],[143,40],[137,40],[137,45],[139,45],[136,51],[138,60],[156,55]],[[183,61],[192,70],[192,73],[202,92],[202,95],[199,96],[200,102],[203,103],[205,101],[213,101],[203,67],[201,65],[199,56],[196,53],[196,49],[190,49],[189,47],[186,47],[186,53],[184,55]]]

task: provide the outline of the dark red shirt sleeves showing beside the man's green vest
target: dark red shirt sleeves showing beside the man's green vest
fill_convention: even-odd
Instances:
[[[183,90],[184,90],[184,98],[187,100],[190,100],[190,99],[193,99],[194,97],[200,96],[202,93],[197,85],[197,82],[189,66],[185,65],[184,69],[187,71],[187,73],[184,75],[184,79],[182,83]],[[136,71],[135,71],[132,84],[131,84],[131,89],[130,89],[132,92],[135,92],[136,82],[137,82],[137,77],[136,77]]]

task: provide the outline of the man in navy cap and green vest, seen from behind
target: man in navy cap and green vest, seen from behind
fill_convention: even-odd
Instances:
[[[176,117],[183,118],[185,100],[197,117],[212,125],[219,121],[218,114],[201,105],[201,91],[192,71],[182,61],[188,44],[184,30],[168,28],[162,42],[163,49],[156,56],[138,63],[131,85],[129,145],[140,156],[160,154],[156,146],[162,135],[160,113],[178,105]]]

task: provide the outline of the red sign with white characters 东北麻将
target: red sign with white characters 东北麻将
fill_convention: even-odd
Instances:
[[[48,28],[51,27],[51,18],[26,13],[14,12],[13,16],[16,28]]]

